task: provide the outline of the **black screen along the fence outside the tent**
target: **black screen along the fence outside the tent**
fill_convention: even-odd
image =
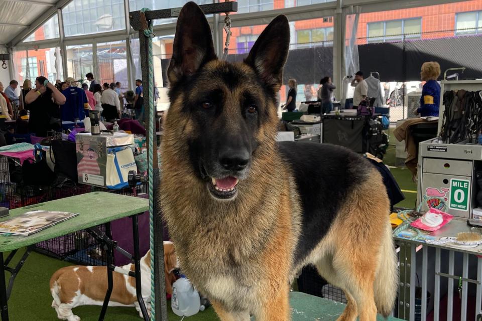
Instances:
[[[465,36],[432,40],[407,40],[358,46],[360,69],[366,75],[378,71],[381,81],[418,81],[420,67],[426,61],[438,61],[442,74],[448,68],[466,67],[459,79],[482,77],[482,36]],[[228,61],[243,61],[248,54],[229,55]],[[169,59],[161,60],[163,81]],[[333,47],[290,50],[284,69],[283,83],[295,78],[298,84],[317,84],[333,73]],[[336,77],[336,75],[335,75]]]

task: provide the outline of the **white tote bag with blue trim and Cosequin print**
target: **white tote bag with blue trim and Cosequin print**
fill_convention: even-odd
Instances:
[[[118,190],[129,187],[130,171],[137,174],[136,160],[131,147],[109,149],[105,170],[105,185],[108,189]]]

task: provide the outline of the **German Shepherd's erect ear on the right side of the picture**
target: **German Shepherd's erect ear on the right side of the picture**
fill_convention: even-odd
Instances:
[[[283,67],[289,46],[288,19],[280,15],[260,35],[245,63],[255,68],[263,81],[277,91],[283,82]]]

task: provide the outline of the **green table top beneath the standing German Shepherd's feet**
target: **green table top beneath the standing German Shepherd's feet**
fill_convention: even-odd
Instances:
[[[336,321],[345,308],[343,303],[337,303],[302,292],[290,293],[290,305],[292,321]],[[385,318],[377,315],[377,320],[382,321]],[[400,319],[389,317],[388,320],[395,321]]]

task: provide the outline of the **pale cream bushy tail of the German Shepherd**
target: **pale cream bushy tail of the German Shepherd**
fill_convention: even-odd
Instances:
[[[394,308],[398,289],[398,259],[393,243],[392,226],[388,219],[386,224],[374,284],[375,303],[378,311],[385,317]]]

